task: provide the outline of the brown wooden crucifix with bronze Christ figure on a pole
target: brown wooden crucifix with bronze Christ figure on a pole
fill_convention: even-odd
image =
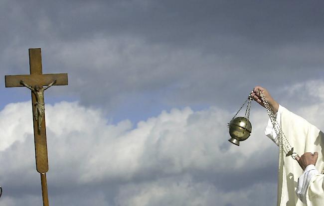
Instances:
[[[31,90],[36,170],[40,173],[43,206],[49,206],[46,172],[48,171],[44,90],[52,85],[67,85],[67,73],[43,74],[40,48],[29,49],[30,75],[6,75],[5,87],[25,86]],[[46,86],[46,87],[43,87]]]

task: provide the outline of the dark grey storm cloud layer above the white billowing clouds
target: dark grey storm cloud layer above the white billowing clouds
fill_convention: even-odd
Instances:
[[[255,84],[276,89],[323,75],[322,6],[266,0],[4,1],[1,67],[7,74],[26,73],[26,49],[42,47],[44,68],[68,71],[68,95],[87,105],[107,102],[110,111],[118,110],[122,102],[138,105],[133,95],[168,107],[225,106],[235,98],[219,98],[224,92],[246,95]],[[302,74],[305,69],[310,72]],[[93,92],[98,86],[101,92]]]

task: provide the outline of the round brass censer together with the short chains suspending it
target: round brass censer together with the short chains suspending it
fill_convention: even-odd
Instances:
[[[240,145],[240,141],[244,141],[245,139],[250,137],[252,132],[252,125],[249,121],[252,92],[250,93],[248,99],[245,100],[241,108],[236,112],[232,120],[228,123],[229,135],[231,136],[231,138],[228,140],[238,146]],[[245,117],[236,117],[236,115],[241,111],[246,103],[247,107],[245,110]]]

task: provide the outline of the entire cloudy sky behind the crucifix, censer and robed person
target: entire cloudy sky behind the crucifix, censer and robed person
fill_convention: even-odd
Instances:
[[[323,1],[0,0],[1,206],[41,205],[27,88],[4,75],[68,73],[45,91],[50,205],[273,206],[278,147],[260,85],[324,128]],[[244,115],[244,111],[241,113]]]

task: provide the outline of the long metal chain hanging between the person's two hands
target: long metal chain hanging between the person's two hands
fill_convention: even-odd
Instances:
[[[291,146],[289,140],[287,139],[284,132],[282,131],[281,126],[276,121],[276,117],[273,114],[273,111],[271,110],[268,101],[264,98],[264,95],[261,91],[260,91],[260,97],[261,97],[261,100],[262,100],[264,106],[267,109],[267,113],[269,115],[270,121],[271,121],[273,128],[276,132],[276,135],[279,139],[279,144],[281,145],[282,149],[286,153],[286,156],[292,156],[293,159],[296,159],[296,156],[298,156],[298,154],[294,152],[294,147]]]

